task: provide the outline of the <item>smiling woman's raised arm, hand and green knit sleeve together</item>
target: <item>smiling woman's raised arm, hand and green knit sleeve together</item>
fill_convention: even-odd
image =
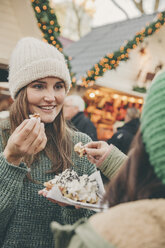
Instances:
[[[0,238],[4,236],[28,173],[22,158],[37,153],[46,144],[44,127],[36,120],[24,120],[7,138],[6,146],[3,133],[0,129]]]

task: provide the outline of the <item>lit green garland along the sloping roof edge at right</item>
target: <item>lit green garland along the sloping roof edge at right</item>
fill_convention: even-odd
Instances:
[[[92,86],[107,70],[116,69],[120,61],[126,61],[129,59],[129,53],[132,49],[135,49],[146,37],[158,32],[163,25],[165,25],[165,11],[157,15],[156,21],[136,33],[135,37],[128,41],[125,46],[121,46],[119,51],[107,54],[90,70],[88,70],[86,73],[87,76],[82,78],[81,86],[86,88]]]

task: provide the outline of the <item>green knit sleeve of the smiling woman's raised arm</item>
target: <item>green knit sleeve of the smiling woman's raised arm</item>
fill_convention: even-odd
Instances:
[[[24,163],[21,163],[20,166],[14,166],[5,159],[2,130],[0,129],[0,240],[3,238],[5,227],[19,199],[27,171]]]

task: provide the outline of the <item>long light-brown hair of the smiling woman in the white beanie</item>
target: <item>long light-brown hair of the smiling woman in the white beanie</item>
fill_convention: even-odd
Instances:
[[[11,133],[24,119],[29,118],[29,114],[27,88],[24,87],[10,108]],[[49,172],[61,172],[72,164],[71,151],[73,147],[72,130],[67,126],[62,110],[53,123],[45,125],[45,132],[48,140],[44,151],[52,162],[52,169]],[[25,157],[24,162],[30,167],[35,158],[37,156]]]

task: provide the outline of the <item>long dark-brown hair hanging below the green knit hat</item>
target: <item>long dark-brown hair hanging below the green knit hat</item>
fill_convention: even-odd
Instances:
[[[107,187],[104,202],[109,206],[140,199],[165,198],[165,185],[157,178],[145,151],[140,129],[128,159]]]

